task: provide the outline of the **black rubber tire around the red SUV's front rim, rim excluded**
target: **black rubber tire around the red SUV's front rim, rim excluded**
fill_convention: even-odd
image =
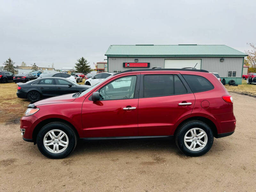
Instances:
[[[67,148],[60,152],[60,153],[52,153],[48,151],[44,147],[44,136],[47,134],[47,132],[51,130],[61,130],[62,132],[65,132],[65,134],[68,136],[68,146]],[[46,157],[52,158],[52,159],[61,159],[66,156],[68,156],[72,151],[75,149],[77,144],[77,135],[73,128],[69,126],[68,124],[62,123],[62,122],[52,122],[47,125],[45,125],[37,134],[36,137],[36,143],[39,151]]]

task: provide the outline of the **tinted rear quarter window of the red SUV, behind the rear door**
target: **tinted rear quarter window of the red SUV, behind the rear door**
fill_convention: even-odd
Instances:
[[[212,90],[214,87],[206,78],[197,75],[183,75],[192,92]]]

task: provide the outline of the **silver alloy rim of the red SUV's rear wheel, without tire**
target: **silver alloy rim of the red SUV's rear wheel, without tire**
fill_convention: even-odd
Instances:
[[[200,128],[192,128],[186,132],[184,137],[185,146],[191,151],[202,150],[208,141],[206,132]]]

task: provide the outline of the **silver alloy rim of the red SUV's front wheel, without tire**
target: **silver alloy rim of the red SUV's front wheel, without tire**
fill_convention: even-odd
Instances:
[[[65,132],[54,129],[44,135],[44,147],[51,153],[61,153],[68,148],[68,136]]]

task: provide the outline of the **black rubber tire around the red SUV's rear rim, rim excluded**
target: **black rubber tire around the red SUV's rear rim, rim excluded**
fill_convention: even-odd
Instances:
[[[206,135],[207,135],[207,143],[205,145],[204,148],[202,148],[199,151],[192,151],[190,149],[188,149],[185,145],[184,142],[184,137],[185,134],[192,128],[200,128],[202,129]],[[211,147],[212,147],[212,143],[213,143],[213,134],[212,134],[212,130],[211,128],[205,124],[202,121],[198,121],[198,120],[192,120],[192,121],[188,121],[185,124],[181,125],[175,135],[175,142],[177,147],[186,155],[188,156],[202,156],[205,153],[207,153]],[[194,141],[193,141],[194,142]]]

